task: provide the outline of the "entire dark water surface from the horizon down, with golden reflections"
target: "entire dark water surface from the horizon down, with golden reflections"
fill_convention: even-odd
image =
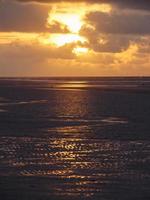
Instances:
[[[0,79],[0,199],[149,200],[150,78]]]

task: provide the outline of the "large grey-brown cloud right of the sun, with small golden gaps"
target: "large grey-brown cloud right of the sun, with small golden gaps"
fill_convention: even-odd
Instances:
[[[88,39],[87,47],[95,52],[118,53],[133,43],[148,42],[150,14],[145,12],[117,11],[90,12],[85,17],[80,34]]]

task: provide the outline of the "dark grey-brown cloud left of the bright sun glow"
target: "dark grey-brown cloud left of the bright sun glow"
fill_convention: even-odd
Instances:
[[[45,5],[0,3],[0,31],[43,32],[50,8]]]

